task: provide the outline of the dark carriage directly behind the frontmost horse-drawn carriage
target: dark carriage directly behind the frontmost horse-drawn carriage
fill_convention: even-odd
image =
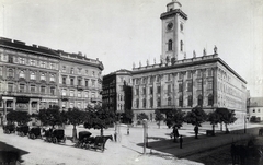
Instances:
[[[45,137],[47,142],[53,142],[53,143],[58,143],[58,142],[64,142],[66,141],[65,137],[65,131],[64,129],[49,129],[49,130],[44,130],[45,131]]]

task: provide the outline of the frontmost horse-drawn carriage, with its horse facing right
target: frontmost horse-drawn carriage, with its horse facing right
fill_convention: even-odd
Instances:
[[[75,146],[82,148],[82,149],[93,149],[93,150],[101,150],[102,152],[105,150],[105,143],[108,139],[113,141],[112,135],[96,135],[91,137],[92,133],[89,131],[81,131],[79,132],[79,139]]]

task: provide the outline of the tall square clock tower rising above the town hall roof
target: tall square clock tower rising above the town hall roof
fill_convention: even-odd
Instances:
[[[162,61],[176,61],[185,52],[185,24],[187,15],[181,10],[182,4],[172,0],[167,4],[162,20]]]

